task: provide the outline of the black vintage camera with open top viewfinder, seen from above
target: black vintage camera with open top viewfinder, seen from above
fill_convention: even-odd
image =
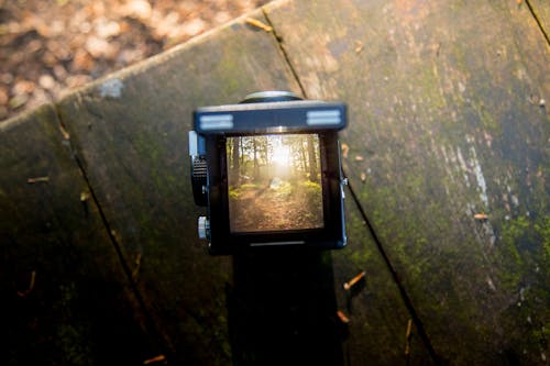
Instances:
[[[263,91],[194,112],[189,132],[195,202],[210,254],[254,247],[345,246],[338,131],[340,102]]]

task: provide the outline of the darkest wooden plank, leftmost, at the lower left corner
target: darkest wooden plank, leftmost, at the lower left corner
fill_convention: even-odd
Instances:
[[[144,332],[52,106],[0,126],[2,363],[141,364]]]

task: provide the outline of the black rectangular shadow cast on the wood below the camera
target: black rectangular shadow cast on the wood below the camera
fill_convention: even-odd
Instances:
[[[233,365],[342,365],[332,256],[304,247],[233,256]]]

